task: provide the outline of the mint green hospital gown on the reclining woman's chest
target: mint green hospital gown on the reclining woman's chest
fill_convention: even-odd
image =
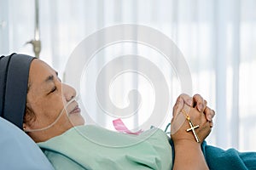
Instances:
[[[133,135],[86,125],[38,145],[55,169],[172,169],[172,147],[157,128]]]

